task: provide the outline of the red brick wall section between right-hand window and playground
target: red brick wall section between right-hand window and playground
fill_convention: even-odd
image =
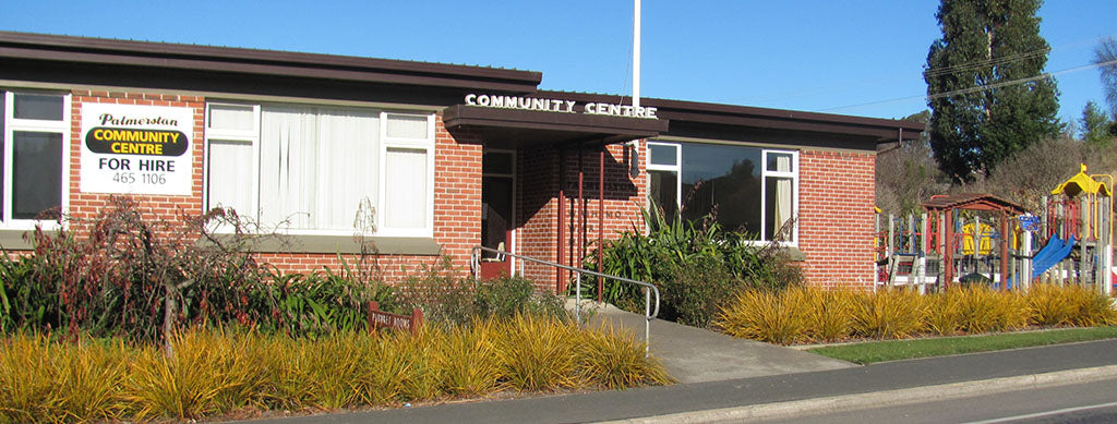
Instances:
[[[872,153],[800,154],[799,249],[812,286],[872,288]]]

